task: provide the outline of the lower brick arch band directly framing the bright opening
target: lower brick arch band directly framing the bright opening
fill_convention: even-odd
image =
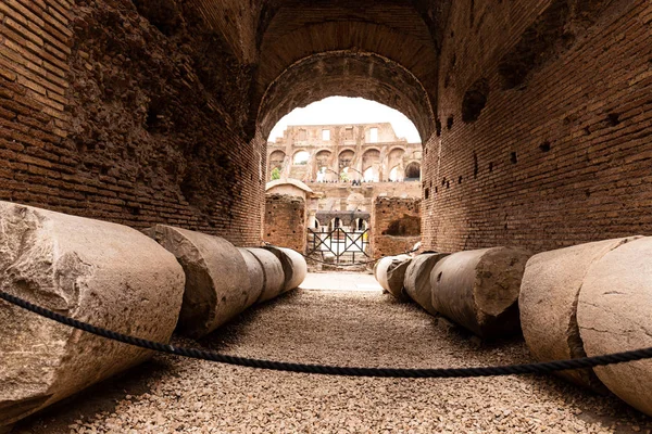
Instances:
[[[428,95],[408,69],[374,53],[331,51],[297,62],[268,87],[258,114],[263,137],[293,108],[333,94],[397,108],[414,123],[422,139],[432,132]]]

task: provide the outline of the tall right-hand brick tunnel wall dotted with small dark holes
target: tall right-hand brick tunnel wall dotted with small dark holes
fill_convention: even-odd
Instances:
[[[424,155],[425,247],[652,234],[650,40],[644,0],[454,2],[441,135]]]

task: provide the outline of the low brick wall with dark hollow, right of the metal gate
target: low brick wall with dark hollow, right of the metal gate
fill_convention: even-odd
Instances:
[[[412,250],[421,240],[421,200],[376,197],[369,247],[374,258]]]

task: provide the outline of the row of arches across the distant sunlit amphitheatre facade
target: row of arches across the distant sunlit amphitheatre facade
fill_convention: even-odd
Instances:
[[[417,158],[421,155],[414,154],[409,155],[409,158],[405,159],[405,150],[394,148],[388,153],[384,165],[380,151],[377,149],[366,150],[362,154],[361,162],[355,162],[355,152],[353,150],[340,151],[336,162],[333,161],[331,151],[322,150],[315,154],[312,161],[309,178],[314,181],[347,181],[353,179],[361,179],[366,182],[378,182],[381,180],[418,181],[421,180],[421,163]],[[311,154],[308,151],[297,151],[292,155],[291,162],[286,162],[286,153],[284,151],[274,151],[269,154],[268,158],[268,174],[272,178],[275,168],[278,171],[283,171],[286,164],[301,166],[310,163]],[[359,166],[359,168],[355,166]],[[384,170],[384,166],[388,170]]]

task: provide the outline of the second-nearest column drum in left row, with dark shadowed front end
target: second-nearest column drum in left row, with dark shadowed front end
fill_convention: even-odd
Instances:
[[[172,252],[184,267],[186,290],[179,317],[184,334],[206,335],[247,308],[252,298],[247,264],[231,243],[165,225],[143,232]]]

